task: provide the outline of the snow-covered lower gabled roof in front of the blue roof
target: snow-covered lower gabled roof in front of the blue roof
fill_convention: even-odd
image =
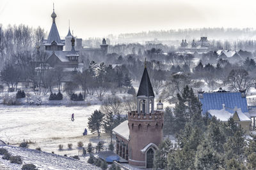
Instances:
[[[230,117],[234,117],[235,113],[237,113],[241,122],[251,121],[250,118],[241,111],[241,108],[238,108],[236,111],[234,110],[234,113],[230,113],[230,111],[225,108],[222,108],[221,110],[209,110],[208,112],[212,117],[216,117],[223,122],[227,122]]]

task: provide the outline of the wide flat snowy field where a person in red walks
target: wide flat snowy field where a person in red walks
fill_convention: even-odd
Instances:
[[[84,128],[88,129],[88,117],[100,105],[93,106],[4,106],[0,105],[0,139],[10,145],[18,146],[20,142],[30,140],[29,148],[40,146],[45,152],[60,155],[77,155],[77,142],[82,141],[87,146],[94,146],[99,141],[109,141],[102,134],[83,136]],[[71,121],[74,113],[75,121]],[[72,143],[73,150],[67,149]],[[58,151],[58,145],[64,145],[63,151]]]

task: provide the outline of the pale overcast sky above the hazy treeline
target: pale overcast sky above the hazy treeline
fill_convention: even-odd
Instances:
[[[255,0],[0,0],[0,23],[51,29],[79,38],[188,27],[256,28]]]

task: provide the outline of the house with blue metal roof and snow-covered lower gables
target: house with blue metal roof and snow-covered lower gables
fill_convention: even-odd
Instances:
[[[199,92],[198,98],[202,103],[202,114],[209,113],[210,117],[216,117],[222,122],[227,122],[230,117],[241,125],[246,134],[250,134],[250,114],[248,111],[246,95],[241,92]]]

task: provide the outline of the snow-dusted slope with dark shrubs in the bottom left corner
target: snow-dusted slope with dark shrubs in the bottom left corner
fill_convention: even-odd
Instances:
[[[69,157],[63,157],[60,155],[40,152],[37,150],[31,150],[29,148],[20,148],[17,146],[0,145],[0,148],[5,148],[12,155],[19,155],[22,158],[23,164],[34,164],[38,169],[47,170],[82,170],[82,169],[100,169],[97,166],[92,166],[85,161],[72,159]],[[1,157],[1,155],[0,155]],[[1,158],[0,158],[1,159]],[[1,162],[10,169],[21,169],[22,165],[11,164],[10,160],[1,159]]]

